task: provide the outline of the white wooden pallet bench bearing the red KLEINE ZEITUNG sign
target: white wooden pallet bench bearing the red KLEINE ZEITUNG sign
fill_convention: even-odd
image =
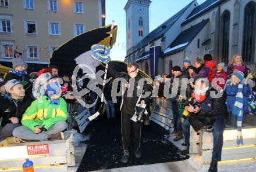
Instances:
[[[68,166],[75,165],[73,134],[66,131],[64,136],[65,140],[24,142],[0,148],[0,171],[22,171],[27,158],[37,172],[67,171]]]

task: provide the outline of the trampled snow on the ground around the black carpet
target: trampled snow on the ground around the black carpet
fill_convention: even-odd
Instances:
[[[84,152],[86,152],[87,145],[86,140],[90,140],[90,135],[86,136],[84,134],[77,133],[76,130],[72,130],[74,134],[74,151],[76,158],[76,166],[69,167],[68,172],[76,172],[78,169],[81,160],[83,159]],[[182,142],[173,141],[174,137],[165,136],[170,142],[176,145],[179,149],[186,149],[182,146]],[[188,170],[189,169],[189,170]],[[190,158],[178,162],[169,162],[169,163],[159,163],[159,164],[149,164],[143,166],[132,166],[132,167],[122,167],[117,169],[108,169],[108,170],[97,170],[97,171],[106,171],[106,172],[207,172],[209,169],[209,164],[202,164],[201,156],[196,154],[190,155]],[[255,172],[256,170],[256,160],[246,160],[240,162],[229,162],[229,163],[219,163],[218,172]],[[94,171],[96,172],[96,171]]]

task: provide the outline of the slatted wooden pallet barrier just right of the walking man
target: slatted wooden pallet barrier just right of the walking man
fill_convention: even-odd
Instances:
[[[151,120],[169,130],[173,127],[172,98],[152,97]]]

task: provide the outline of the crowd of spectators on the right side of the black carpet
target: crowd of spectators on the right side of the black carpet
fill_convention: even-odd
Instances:
[[[190,126],[195,131],[204,129],[214,136],[214,149],[209,172],[218,170],[223,145],[223,131],[226,124],[237,127],[237,144],[242,144],[241,127],[247,113],[253,112],[248,97],[255,90],[256,71],[243,63],[243,58],[237,54],[232,57],[225,70],[225,64],[216,64],[211,54],[205,54],[203,59],[197,58],[194,66],[189,57],[184,58],[183,68],[172,67],[170,75],[163,74],[157,85],[158,97],[166,97],[165,85],[170,83],[170,92],[175,87],[175,79],[193,78],[187,87],[182,82],[176,86],[177,96],[172,97],[174,130],[170,136],[174,141],[184,138],[184,153],[189,153]],[[191,81],[191,80],[189,80]],[[186,94],[181,94],[186,92]],[[222,96],[211,96],[211,92]]]

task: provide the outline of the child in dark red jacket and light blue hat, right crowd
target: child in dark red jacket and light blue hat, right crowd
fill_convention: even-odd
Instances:
[[[217,64],[217,69],[214,72],[213,78],[223,78],[224,82],[222,84],[219,81],[212,82],[212,85],[215,88],[221,87],[222,89],[224,89],[225,83],[227,81],[227,72],[224,71],[224,66],[225,66],[225,63]]]

